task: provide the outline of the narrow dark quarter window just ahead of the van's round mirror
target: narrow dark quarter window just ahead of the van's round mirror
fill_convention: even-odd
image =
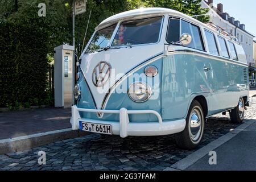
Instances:
[[[180,39],[180,19],[170,18],[166,41],[168,43],[178,42]]]

